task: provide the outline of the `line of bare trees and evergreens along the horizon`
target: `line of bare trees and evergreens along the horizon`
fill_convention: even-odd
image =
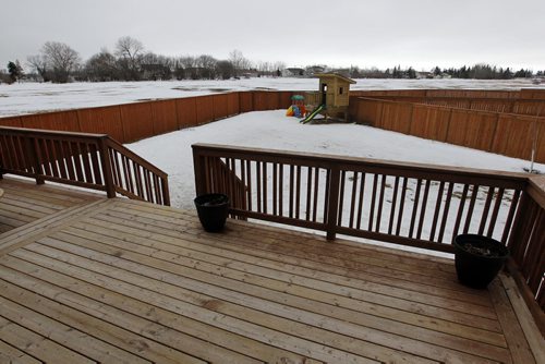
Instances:
[[[19,60],[10,61],[7,71],[0,70],[0,82],[13,83],[21,78],[52,83],[70,81],[157,81],[157,80],[228,80],[240,76],[281,76],[283,62],[251,62],[240,50],[233,50],[227,59],[216,59],[209,54],[166,57],[147,51],[138,39],[125,36],[118,39],[113,52],[102,48],[88,60],[83,61],[80,53],[69,45],[47,41],[37,54],[27,57],[31,69],[25,74]],[[544,76],[545,71],[497,68],[489,64],[475,64],[459,69],[434,69],[423,72],[412,66],[379,70],[377,68],[331,69],[327,65],[308,65],[304,69],[287,69],[288,75],[312,76],[316,72],[338,72],[352,78],[476,78],[510,80],[516,77]],[[295,71],[293,71],[295,70]]]

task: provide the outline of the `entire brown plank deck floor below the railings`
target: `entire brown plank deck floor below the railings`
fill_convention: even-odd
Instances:
[[[0,234],[0,363],[543,363],[505,276],[475,291],[448,259],[0,187],[0,222],[25,222]]]

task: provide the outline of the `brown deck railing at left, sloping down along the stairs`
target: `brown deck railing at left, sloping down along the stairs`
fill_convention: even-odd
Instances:
[[[0,177],[12,173],[169,205],[167,173],[102,134],[0,128]]]

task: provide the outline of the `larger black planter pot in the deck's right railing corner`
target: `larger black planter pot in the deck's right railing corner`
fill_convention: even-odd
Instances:
[[[509,256],[500,242],[477,234],[458,235],[453,246],[458,280],[476,289],[485,289]]]

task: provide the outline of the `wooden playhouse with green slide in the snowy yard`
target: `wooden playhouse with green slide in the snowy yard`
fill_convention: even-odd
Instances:
[[[341,76],[336,73],[318,73],[319,92],[306,93],[304,99],[306,109],[313,110],[302,123],[314,120],[320,113],[325,120],[341,119],[348,121],[348,106],[350,101],[350,85],[355,84],[354,80]]]

